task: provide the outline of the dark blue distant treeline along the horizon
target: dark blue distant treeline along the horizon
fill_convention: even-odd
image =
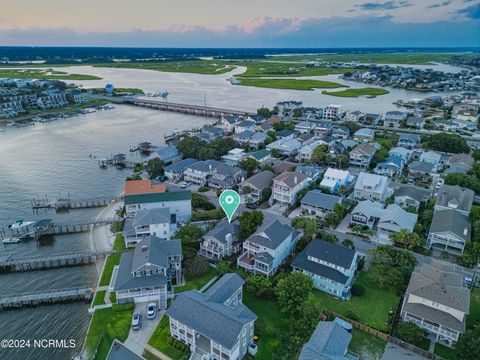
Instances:
[[[300,53],[389,53],[389,52],[438,52],[452,49],[399,49],[399,48],[345,48],[345,49],[182,49],[182,48],[115,48],[115,47],[0,47],[0,61],[45,61],[48,64],[108,63],[121,60],[192,60],[199,57],[218,59],[259,59],[266,55]],[[455,49],[462,51],[462,49]],[[464,49],[467,50],[467,49]],[[3,65],[3,64],[2,64]]]

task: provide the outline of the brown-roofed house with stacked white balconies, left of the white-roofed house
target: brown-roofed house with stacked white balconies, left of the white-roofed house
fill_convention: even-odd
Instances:
[[[273,199],[291,206],[297,200],[297,193],[306,188],[311,179],[306,174],[284,172],[273,179]]]

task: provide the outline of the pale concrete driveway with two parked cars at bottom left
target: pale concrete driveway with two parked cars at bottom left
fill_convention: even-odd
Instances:
[[[158,323],[165,314],[165,310],[158,311],[157,316],[153,320],[147,319],[147,303],[136,304],[134,312],[142,315],[142,327],[136,331],[130,328],[128,338],[125,340],[125,346],[134,353],[142,355],[143,350],[148,344],[148,340],[150,340]]]

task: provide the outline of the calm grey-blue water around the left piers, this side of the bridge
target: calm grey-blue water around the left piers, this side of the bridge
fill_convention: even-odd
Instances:
[[[127,170],[100,169],[98,157],[128,153],[140,141],[164,144],[172,129],[202,126],[209,119],[148,109],[117,106],[49,124],[0,132],[0,226],[17,219],[52,218],[72,223],[95,218],[99,209],[34,214],[30,200],[37,195],[70,193],[72,198],[114,197],[123,187]],[[130,154],[129,154],[130,156]],[[132,155],[138,160],[140,155]],[[21,256],[87,250],[88,234],[59,236],[44,243],[0,244],[0,254]],[[93,285],[96,266],[0,275],[0,294],[11,295],[49,288]],[[74,303],[0,313],[0,339],[75,339],[75,349],[2,350],[0,359],[69,359],[81,347],[89,316],[87,305]]]

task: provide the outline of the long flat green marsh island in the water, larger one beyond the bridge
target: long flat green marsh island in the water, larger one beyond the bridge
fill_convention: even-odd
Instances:
[[[333,89],[345,87],[340,83],[321,80],[298,80],[298,79],[251,79],[237,78],[236,85],[265,87],[271,89],[291,89],[291,90],[314,90],[314,89]]]

